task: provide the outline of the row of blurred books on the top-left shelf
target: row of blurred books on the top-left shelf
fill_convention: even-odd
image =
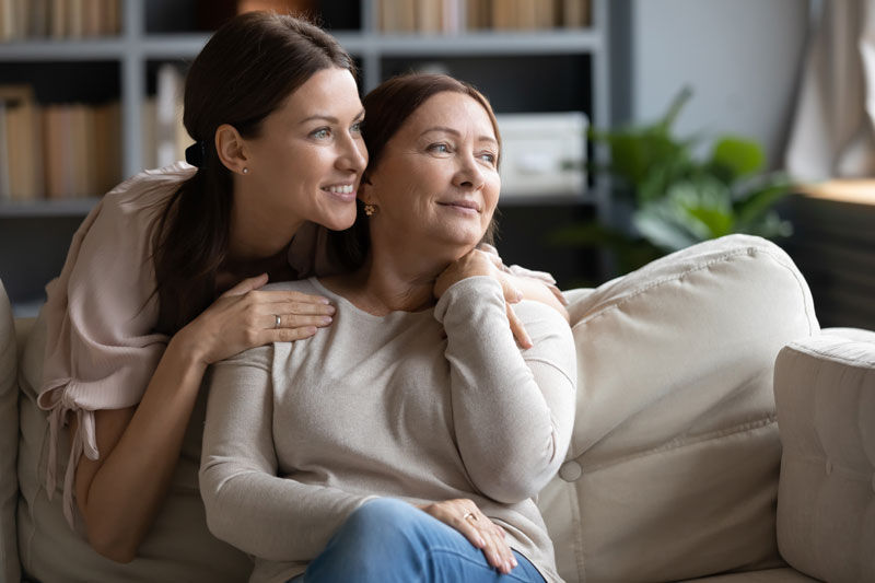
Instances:
[[[0,43],[115,36],[121,0],[0,0]]]

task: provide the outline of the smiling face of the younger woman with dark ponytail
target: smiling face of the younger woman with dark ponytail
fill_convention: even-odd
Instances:
[[[364,109],[352,74],[323,69],[265,118],[245,140],[258,203],[332,230],[355,220],[355,193],[368,164],[360,125]]]

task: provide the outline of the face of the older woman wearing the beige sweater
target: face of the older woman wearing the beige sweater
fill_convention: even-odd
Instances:
[[[372,236],[466,252],[486,233],[499,199],[499,145],[477,101],[429,97],[386,144],[371,174]]]

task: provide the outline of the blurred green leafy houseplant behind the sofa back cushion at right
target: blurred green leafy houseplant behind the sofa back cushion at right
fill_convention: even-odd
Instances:
[[[701,136],[680,139],[673,125],[691,91],[684,89],[654,124],[593,130],[610,162],[597,172],[614,178],[611,224],[581,224],[557,233],[564,245],[606,245],[627,272],[701,241],[732,233],[786,237],[792,225],[774,205],[790,193],[783,173],[762,172],[765,154],[755,141],[719,136],[708,158],[693,149]]]

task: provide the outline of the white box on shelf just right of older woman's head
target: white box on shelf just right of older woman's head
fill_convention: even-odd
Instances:
[[[502,197],[580,196],[586,190],[586,114],[501,114],[497,118]]]

